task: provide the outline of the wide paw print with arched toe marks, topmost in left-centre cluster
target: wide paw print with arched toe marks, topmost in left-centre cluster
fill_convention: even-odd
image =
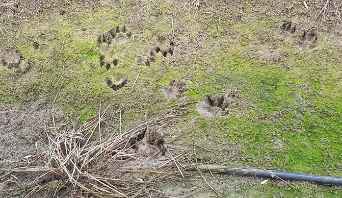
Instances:
[[[126,26],[120,31],[119,25],[116,28],[111,28],[106,33],[102,34],[98,38],[98,44],[124,44],[128,38],[132,36],[132,32],[127,32]]]

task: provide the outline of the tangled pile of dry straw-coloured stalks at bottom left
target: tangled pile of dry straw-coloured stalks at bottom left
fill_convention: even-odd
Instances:
[[[126,131],[114,131],[107,135],[102,131],[102,124],[109,119],[106,111],[80,127],[73,125],[61,129],[53,120],[53,126],[46,129],[47,151],[11,162],[12,167],[8,170],[0,169],[0,195],[137,197],[150,196],[146,193],[146,188],[158,188],[175,181],[177,177],[199,177],[209,183],[199,170],[193,170],[196,165],[194,162],[197,162],[194,158],[196,154],[193,154],[196,152],[194,148],[177,148],[173,141],[165,141],[165,154],[161,154],[157,163],[156,160],[151,163],[156,156],[132,149],[139,147],[137,141],[141,141],[148,127],[165,127],[177,123],[188,112],[175,106],[168,116],[149,121],[146,119],[143,124]],[[184,144],[187,144],[186,141],[183,141],[182,145]],[[113,178],[102,172],[112,165],[120,169],[114,172],[134,173],[137,174],[136,178]],[[35,176],[26,181],[22,179],[25,174]],[[146,178],[146,175],[149,179],[140,179]],[[210,188],[213,189],[211,186]]]

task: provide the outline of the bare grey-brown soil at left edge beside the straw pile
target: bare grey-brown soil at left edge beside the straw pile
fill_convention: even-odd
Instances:
[[[6,160],[21,159],[42,151],[44,127],[52,111],[38,106],[0,107],[0,167]]]

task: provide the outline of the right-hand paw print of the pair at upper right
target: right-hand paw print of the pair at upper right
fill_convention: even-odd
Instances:
[[[297,46],[302,51],[309,51],[317,46],[316,27],[311,27],[309,30],[304,30],[304,33],[297,42]]]

